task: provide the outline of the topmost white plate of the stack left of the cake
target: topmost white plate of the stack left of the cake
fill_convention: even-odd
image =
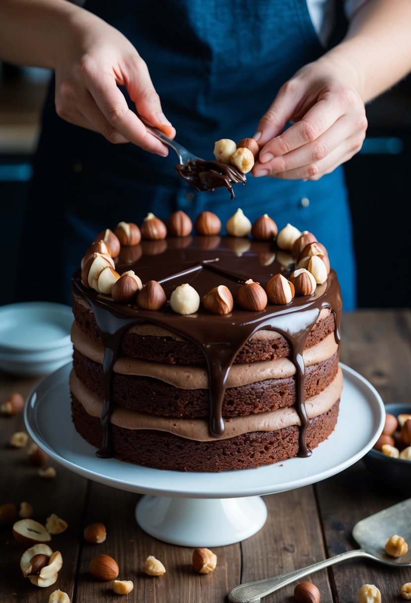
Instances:
[[[29,353],[70,344],[72,308],[48,301],[24,301],[0,308],[0,351]]]

